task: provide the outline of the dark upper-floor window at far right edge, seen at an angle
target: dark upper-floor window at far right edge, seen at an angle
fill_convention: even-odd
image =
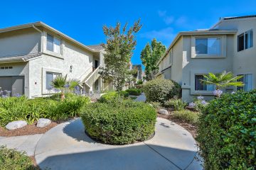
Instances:
[[[238,35],[238,52],[252,47],[252,30]]]

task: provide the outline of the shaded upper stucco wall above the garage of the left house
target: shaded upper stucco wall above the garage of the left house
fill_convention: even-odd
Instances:
[[[41,33],[34,28],[0,34],[0,57],[36,54],[41,48]]]

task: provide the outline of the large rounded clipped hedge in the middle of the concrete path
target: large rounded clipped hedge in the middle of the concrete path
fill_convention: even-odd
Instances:
[[[156,110],[131,100],[91,103],[82,112],[82,122],[90,137],[112,145],[144,141],[154,133]]]

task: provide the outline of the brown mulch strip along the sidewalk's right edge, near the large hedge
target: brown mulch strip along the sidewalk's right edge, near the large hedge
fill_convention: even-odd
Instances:
[[[169,112],[169,115],[157,114],[157,116],[159,118],[165,118],[167,120],[171,120],[174,123],[177,123],[178,125],[182,126],[184,129],[188,130],[188,132],[191,133],[193,138],[196,138],[196,136],[198,134],[197,133],[198,127],[196,125],[192,125],[191,123],[186,123],[184,120],[174,118],[174,116],[171,114],[172,111],[170,109],[166,109],[166,110]]]

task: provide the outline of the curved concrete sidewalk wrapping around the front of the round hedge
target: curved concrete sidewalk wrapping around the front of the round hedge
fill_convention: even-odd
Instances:
[[[103,145],[87,137],[80,119],[62,123],[38,141],[36,162],[50,169],[202,169],[196,142],[176,123],[157,118],[156,135],[133,145]]]

